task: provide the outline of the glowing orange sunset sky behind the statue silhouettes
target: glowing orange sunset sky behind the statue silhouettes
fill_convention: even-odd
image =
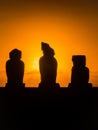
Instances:
[[[0,3],[0,86],[6,83],[5,63],[13,48],[22,51],[26,86],[40,82],[41,41],[55,50],[57,82],[70,82],[72,55],[84,54],[90,82],[98,86],[98,9],[95,1],[9,0]]]

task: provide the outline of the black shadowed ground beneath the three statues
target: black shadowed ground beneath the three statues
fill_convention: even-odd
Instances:
[[[0,130],[98,129],[98,88],[0,88]]]

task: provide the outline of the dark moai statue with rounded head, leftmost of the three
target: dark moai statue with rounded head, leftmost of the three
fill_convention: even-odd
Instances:
[[[7,84],[6,87],[24,87],[23,76],[24,76],[24,63],[21,61],[21,51],[13,49],[9,53],[9,60],[6,62],[6,75]]]

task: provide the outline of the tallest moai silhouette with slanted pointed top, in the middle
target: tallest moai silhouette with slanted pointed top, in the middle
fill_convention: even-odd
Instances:
[[[59,87],[59,84],[56,83],[57,60],[54,58],[55,52],[49,44],[44,42],[41,43],[41,49],[43,51],[43,56],[39,60],[41,74],[41,83],[39,84],[39,87]]]

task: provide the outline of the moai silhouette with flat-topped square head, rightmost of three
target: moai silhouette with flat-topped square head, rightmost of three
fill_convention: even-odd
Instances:
[[[72,56],[72,73],[71,84],[73,87],[85,87],[89,85],[89,69],[86,67],[85,55],[73,55]]]

